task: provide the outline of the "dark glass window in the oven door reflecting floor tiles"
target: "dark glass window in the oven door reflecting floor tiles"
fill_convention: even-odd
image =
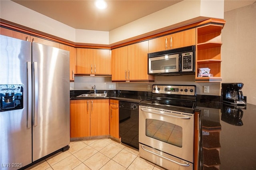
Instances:
[[[146,136],[182,147],[182,127],[172,123],[146,119]]]

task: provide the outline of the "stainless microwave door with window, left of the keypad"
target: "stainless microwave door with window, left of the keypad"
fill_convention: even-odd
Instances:
[[[148,74],[179,71],[179,54],[148,58]]]

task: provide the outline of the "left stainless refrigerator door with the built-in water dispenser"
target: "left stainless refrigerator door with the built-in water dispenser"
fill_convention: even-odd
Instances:
[[[16,170],[32,162],[31,43],[2,35],[0,41],[0,169]]]

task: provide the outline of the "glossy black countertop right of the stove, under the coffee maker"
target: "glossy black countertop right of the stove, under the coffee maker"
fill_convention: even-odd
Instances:
[[[197,102],[202,125],[203,170],[256,170],[256,105]]]

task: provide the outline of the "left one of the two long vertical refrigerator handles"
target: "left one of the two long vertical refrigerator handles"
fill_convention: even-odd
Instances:
[[[27,62],[27,69],[28,69],[28,124],[27,127],[32,127],[32,68],[31,62]]]

